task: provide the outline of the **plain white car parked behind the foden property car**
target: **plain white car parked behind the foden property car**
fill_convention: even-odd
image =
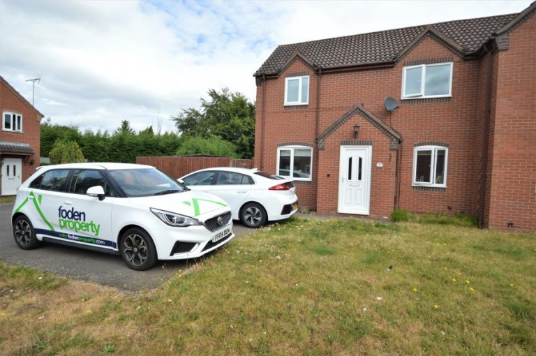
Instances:
[[[179,178],[193,191],[211,193],[228,202],[232,218],[248,228],[290,218],[298,210],[292,179],[256,169],[207,168]]]

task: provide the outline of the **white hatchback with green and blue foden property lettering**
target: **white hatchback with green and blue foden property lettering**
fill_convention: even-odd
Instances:
[[[18,189],[11,223],[21,249],[68,244],[121,254],[140,271],[157,260],[199,257],[234,237],[225,201],[128,163],[38,169]]]

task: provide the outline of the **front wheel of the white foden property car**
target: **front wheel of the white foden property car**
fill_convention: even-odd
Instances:
[[[120,249],[128,267],[136,271],[144,271],[156,264],[154,242],[149,234],[140,228],[131,228],[124,232]]]

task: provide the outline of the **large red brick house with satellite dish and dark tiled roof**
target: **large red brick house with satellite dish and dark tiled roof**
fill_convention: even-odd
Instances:
[[[254,166],[319,213],[535,232],[535,9],[278,46],[254,73]]]

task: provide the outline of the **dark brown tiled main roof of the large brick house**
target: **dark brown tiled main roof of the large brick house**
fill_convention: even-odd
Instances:
[[[253,75],[278,74],[297,54],[304,57],[312,66],[320,68],[362,66],[394,61],[412,41],[422,36],[426,30],[444,36],[463,54],[472,54],[518,15],[440,22],[370,34],[279,45]]]

